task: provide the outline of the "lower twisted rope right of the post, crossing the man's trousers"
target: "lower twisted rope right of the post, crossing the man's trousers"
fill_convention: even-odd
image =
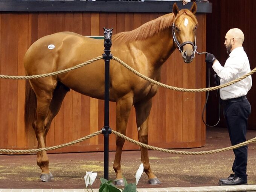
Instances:
[[[151,145],[146,145],[144,143],[141,143],[141,142],[133,140],[133,139],[131,139],[129,137],[126,137],[125,135],[123,135],[123,134],[121,134],[121,133],[119,133],[117,131],[114,131],[114,130],[112,130],[112,133],[115,134],[118,137],[121,137],[121,138],[131,142],[131,143],[134,143],[136,145],[139,145],[139,146],[147,148],[147,149],[151,149],[151,150],[154,150],[154,151],[162,151],[162,152],[171,153],[171,154],[179,154],[179,155],[206,155],[206,154],[214,154],[214,153],[229,151],[229,150],[232,150],[232,149],[237,149],[237,148],[245,146],[245,145],[247,145],[249,143],[255,143],[256,142],[256,137],[254,137],[253,139],[250,139],[248,141],[245,141],[245,142],[242,142],[242,143],[239,143],[237,145],[230,146],[230,147],[222,148],[222,149],[215,149],[215,150],[210,150],[210,151],[198,151],[198,152],[175,151],[175,150],[170,150],[170,149],[163,149],[163,148],[159,148],[159,147],[154,147],[154,146],[151,146]]]

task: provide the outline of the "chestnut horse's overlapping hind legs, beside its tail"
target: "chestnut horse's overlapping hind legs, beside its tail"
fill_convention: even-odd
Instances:
[[[49,131],[50,123],[58,113],[61,103],[67,93],[67,88],[56,83],[56,80],[49,81],[48,85],[44,84],[45,89],[35,88],[37,95],[37,112],[34,122],[34,130],[38,141],[38,148],[46,147],[46,136]],[[37,153],[37,165],[41,168],[40,179],[49,182],[52,174],[49,171],[49,158],[46,151]]]

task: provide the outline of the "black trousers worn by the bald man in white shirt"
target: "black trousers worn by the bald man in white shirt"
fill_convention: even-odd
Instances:
[[[251,105],[247,99],[237,102],[222,103],[224,117],[226,119],[229,137],[232,145],[246,141],[248,117],[251,113]],[[233,149],[235,160],[232,171],[236,176],[247,178],[247,146]]]

